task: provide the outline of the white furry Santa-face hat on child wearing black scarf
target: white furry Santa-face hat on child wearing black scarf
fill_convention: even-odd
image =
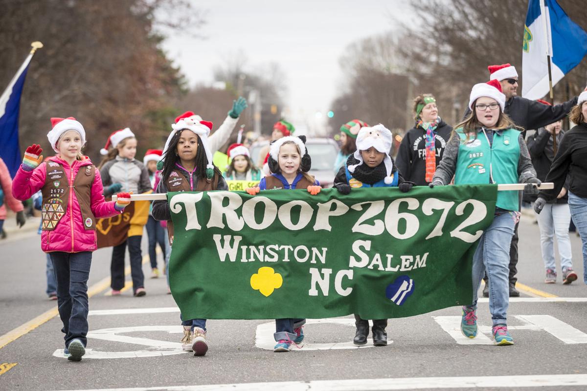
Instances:
[[[377,149],[377,151],[383,152],[385,154],[383,163],[385,164],[387,175],[384,179],[384,182],[387,185],[390,185],[393,182],[393,163],[392,158],[389,156],[389,151],[392,149],[392,142],[392,132],[382,124],[375,125],[374,127],[362,127],[359,130],[359,134],[357,134],[357,150],[353,155],[353,157],[355,157],[359,163],[350,165],[348,167],[349,172],[355,172],[355,168],[363,164],[363,156],[361,155],[361,151],[366,151],[367,149],[373,147]]]

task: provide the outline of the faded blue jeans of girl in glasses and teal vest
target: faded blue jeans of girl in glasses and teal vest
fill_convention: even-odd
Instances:
[[[491,225],[479,239],[473,256],[473,304],[477,310],[477,291],[487,270],[489,277],[489,311],[493,325],[506,325],[508,304],[510,304],[510,242],[514,236],[514,212],[495,215]]]

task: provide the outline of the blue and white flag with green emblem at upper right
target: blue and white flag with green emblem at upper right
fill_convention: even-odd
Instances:
[[[587,54],[587,32],[571,21],[556,0],[529,0],[522,45],[522,96],[536,100],[577,66]]]

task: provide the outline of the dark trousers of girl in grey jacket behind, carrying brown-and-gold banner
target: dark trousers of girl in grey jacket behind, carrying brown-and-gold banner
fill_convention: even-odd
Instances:
[[[123,243],[112,248],[112,261],[110,263],[110,287],[119,291],[124,288],[124,256],[126,244],[129,244],[130,276],[133,279],[133,292],[144,288],[143,256],[141,256],[141,236],[129,236]]]

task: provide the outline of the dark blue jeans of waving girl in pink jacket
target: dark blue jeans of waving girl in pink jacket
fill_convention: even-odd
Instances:
[[[77,338],[87,344],[87,278],[90,276],[92,252],[49,253],[57,280],[57,305],[59,317],[63,322],[61,331],[65,333],[65,347]]]

